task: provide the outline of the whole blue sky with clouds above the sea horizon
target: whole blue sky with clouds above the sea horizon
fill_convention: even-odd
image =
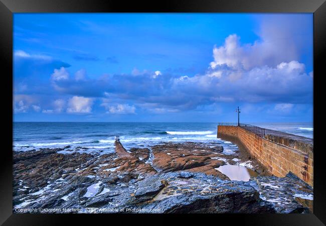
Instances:
[[[313,14],[14,14],[14,121],[312,122]]]

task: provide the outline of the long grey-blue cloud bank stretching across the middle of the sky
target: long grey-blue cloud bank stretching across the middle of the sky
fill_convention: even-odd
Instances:
[[[205,74],[165,74],[160,79],[152,76],[154,72],[138,72],[136,76],[116,74],[101,79],[59,80],[55,84],[57,90],[78,96],[109,97],[115,102],[120,99],[137,104],[153,103],[148,106],[153,111],[155,108],[196,109],[198,105],[214,102],[312,101],[312,78],[305,72],[304,64],[298,61],[257,66],[250,70],[222,66],[217,70],[211,68]],[[115,106],[111,112],[119,110]]]

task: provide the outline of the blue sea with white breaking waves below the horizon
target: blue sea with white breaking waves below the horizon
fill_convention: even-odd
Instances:
[[[266,129],[313,138],[312,123],[248,123]],[[13,150],[65,148],[61,153],[114,152],[115,137],[128,150],[147,148],[164,142],[219,142],[225,154],[237,146],[217,138],[217,123],[94,123],[94,122],[14,122]],[[68,146],[68,147],[67,147]],[[60,152],[59,152],[60,153]]]

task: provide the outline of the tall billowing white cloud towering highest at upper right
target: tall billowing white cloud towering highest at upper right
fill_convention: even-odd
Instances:
[[[229,35],[223,46],[214,46],[214,61],[210,63],[211,68],[227,65],[232,69],[250,70],[254,67],[276,66],[282,61],[298,59],[297,51],[293,43],[290,43],[291,39],[266,33],[266,31],[262,33],[261,40],[243,45],[240,43],[239,36]]]

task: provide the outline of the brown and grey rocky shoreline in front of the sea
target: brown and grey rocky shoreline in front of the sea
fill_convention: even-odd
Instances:
[[[292,173],[270,176],[218,142],[126,150],[117,140],[115,153],[80,149],[14,151],[13,212],[303,213],[309,209],[298,198],[313,198]],[[231,180],[219,170],[226,165],[250,165],[257,176]]]

